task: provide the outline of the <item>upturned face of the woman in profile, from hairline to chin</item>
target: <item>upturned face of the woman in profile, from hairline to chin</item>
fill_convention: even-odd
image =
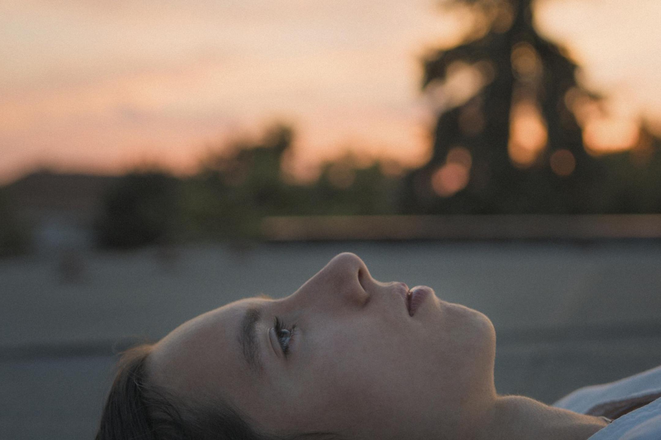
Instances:
[[[184,323],[155,346],[149,373],[175,394],[223,398],[269,433],[467,437],[496,398],[493,326],[434,295],[411,316],[407,290],[342,253],[286,298]]]

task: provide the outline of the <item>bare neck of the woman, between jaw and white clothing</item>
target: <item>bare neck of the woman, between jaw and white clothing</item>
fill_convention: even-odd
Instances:
[[[476,440],[587,440],[601,418],[545,405],[523,396],[498,396]]]

